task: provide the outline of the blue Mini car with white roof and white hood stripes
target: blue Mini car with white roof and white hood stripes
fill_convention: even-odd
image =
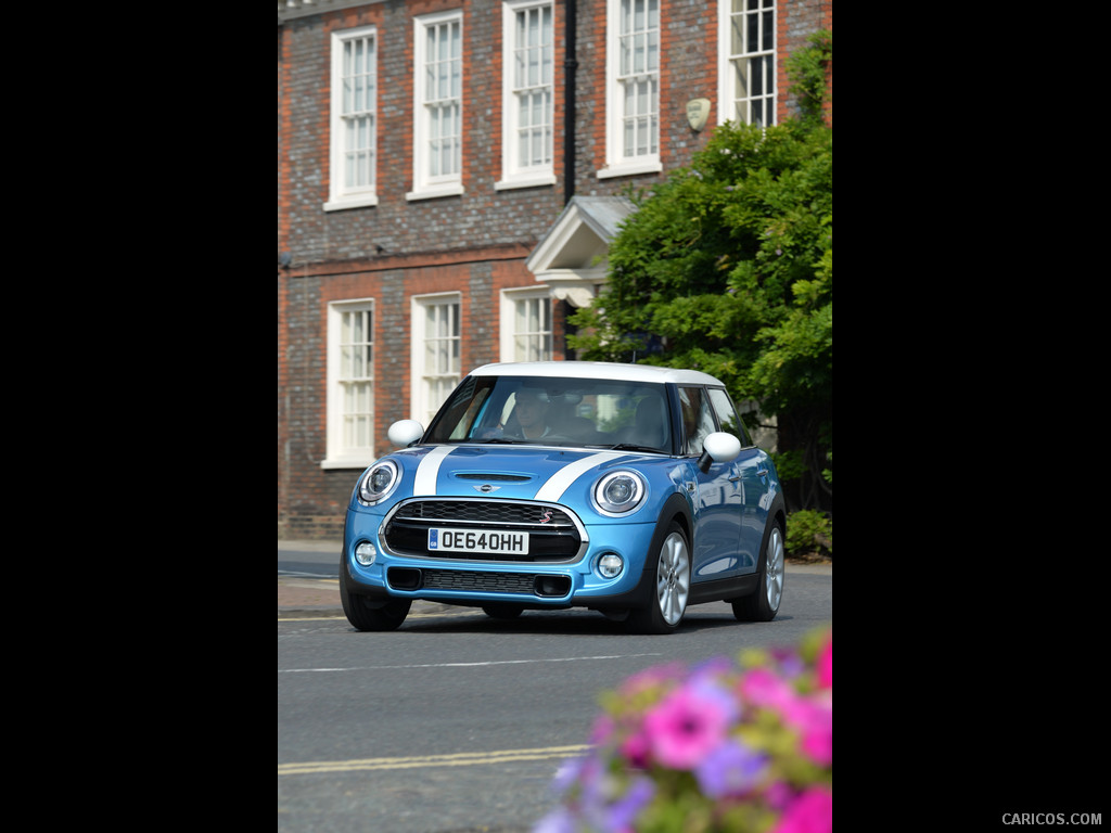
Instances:
[[[520,362],[471,371],[351,493],[340,595],[359,631],[428,600],[587,608],[641,633],[688,606],[771,621],[783,596],[779,475],[725,385],[695,370]]]

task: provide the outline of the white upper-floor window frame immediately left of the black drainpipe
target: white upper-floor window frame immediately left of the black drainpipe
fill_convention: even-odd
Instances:
[[[512,188],[534,188],[556,184],[556,3],[554,0],[504,0],[502,2],[502,120],[501,120],[501,179],[494,182],[494,190]],[[540,89],[548,90],[548,106],[544,117],[548,123],[548,160],[540,164],[524,164],[518,150],[518,133],[521,116],[521,99],[517,90],[517,19],[522,13],[547,9],[550,16],[550,41],[548,43],[548,82]],[[543,74],[543,64],[541,64]]]

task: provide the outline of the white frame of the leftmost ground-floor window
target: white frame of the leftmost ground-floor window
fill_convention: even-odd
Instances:
[[[344,423],[348,411],[346,410],[347,397],[344,385],[352,379],[347,379],[343,373],[343,315],[349,313],[369,313],[370,332],[369,340],[360,342],[370,348],[370,361],[368,362],[369,375],[360,378],[360,381],[370,384],[370,445],[350,445],[346,441]],[[361,469],[372,463],[377,456],[378,438],[374,433],[374,425],[378,419],[377,408],[377,384],[378,374],[374,367],[378,360],[378,351],[374,349],[374,333],[377,331],[376,301],[373,298],[361,298],[344,301],[332,301],[328,304],[328,355],[327,364],[327,393],[326,393],[326,456],[321,462],[323,469]]]

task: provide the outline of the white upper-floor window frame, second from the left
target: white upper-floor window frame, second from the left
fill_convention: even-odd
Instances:
[[[458,160],[456,160],[458,162],[458,170],[448,174],[437,174],[433,177],[429,172],[432,153],[428,144],[431,141],[432,131],[430,129],[431,121],[424,96],[426,72],[429,63],[427,34],[429,29],[444,24],[457,24],[459,27],[459,54],[451,58],[453,62],[458,62],[459,67],[459,93],[458,99],[454,99],[458,102],[458,133],[456,133],[459,141]],[[407,200],[457,197],[463,193],[463,164],[466,162],[463,145],[467,138],[463,130],[467,110],[467,79],[463,74],[466,69],[463,58],[467,51],[466,37],[467,30],[463,27],[463,12],[460,9],[413,18],[413,183],[412,191],[406,194]]]

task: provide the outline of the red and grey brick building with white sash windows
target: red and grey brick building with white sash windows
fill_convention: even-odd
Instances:
[[[469,369],[573,358],[625,190],[790,114],[822,29],[832,0],[279,0],[279,539],[339,538]]]

